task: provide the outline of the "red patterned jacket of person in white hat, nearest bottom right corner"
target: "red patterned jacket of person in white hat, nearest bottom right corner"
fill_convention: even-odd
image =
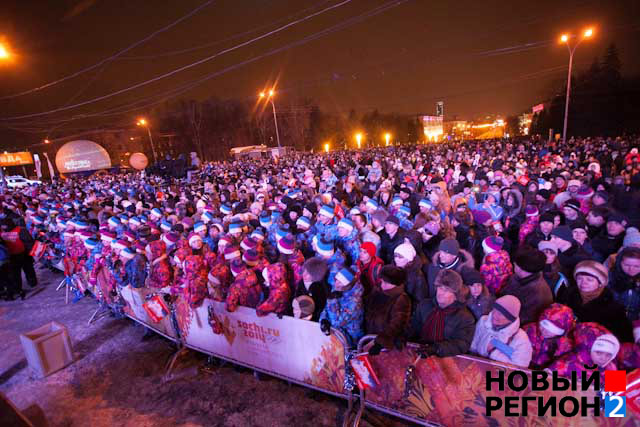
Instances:
[[[576,375],[580,378],[580,373],[586,371],[585,365],[594,365],[591,359],[593,343],[599,336],[608,333],[610,332],[605,327],[597,323],[579,323],[573,333],[574,350],[554,360],[549,365],[549,370],[557,372],[562,377],[570,377],[571,372],[576,372]],[[601,373],[615,369],[616,365],[613,361],[605,367],[598,368]]]

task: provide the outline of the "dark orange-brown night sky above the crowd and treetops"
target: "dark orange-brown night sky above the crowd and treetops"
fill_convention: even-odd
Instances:
[[[204,0],[4,0],[0,36],[16,54],[0,66],[0,96],[39,87],[113,55],[170,24]],[[0,117],[39,113],[120,90],[245,42],[339,0],[221,0],[95,70],[24,96],[0,100]],[[379,14],[383,6],[389,6]],[[358,22],[353,19],[360,17]],[[340,27],[328,35],[322,31]],[[76,117],[56,133],[92,125],[122,125],[139,112],[79,119],[166,93],[205,75],[239,65],[172,98],[254,97],[277,82],[279,105],[310,98],[330,112],[433,113],[445,101],[447,119],[519,113],[544,101],[566,78],[564,31],[595,25],[575,61],[587,67],[615,42],[623,74],[640,72],[640,1],[379,1],[352,0],[274,36],[170,78],[80,108],[18,126],[25,141]],[[201,47],[198,49],[194,49]],[[176,53],[176,51],[190,50]],[[154,98],[149,100],[158,100]],[[138,107],[133,105],[132,107]],[[125,109],[124,107],[122,108]],[[116,110],[118,111],[118,110]],[[44,131],[46,132],[46,131]]]

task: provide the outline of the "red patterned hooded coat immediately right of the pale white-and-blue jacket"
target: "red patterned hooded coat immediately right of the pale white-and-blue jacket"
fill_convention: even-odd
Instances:
[[[540,322],[543,320],[548,320],[560,329],[564,329],[564,335],[544,338],[540,329]],[[543,311],[537,323],[524,325],[522,329],[529,336],[533,348],[532,366],[536,369],[546,368],[558,357],[573,351],[573,340],[570,335],[575,325],[573,311],[566,305],[557,303]]]

